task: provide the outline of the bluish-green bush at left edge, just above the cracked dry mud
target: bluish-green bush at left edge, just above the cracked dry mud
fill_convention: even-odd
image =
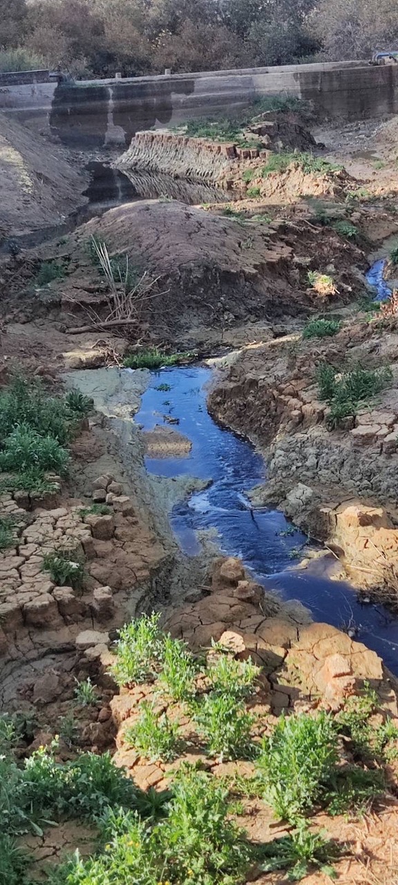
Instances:
[[[36,468],[65,476],[68,463],[69,453],[54,436],[42,436],[28,424],[15,427],[0,452],[0,470],[9,472]]]

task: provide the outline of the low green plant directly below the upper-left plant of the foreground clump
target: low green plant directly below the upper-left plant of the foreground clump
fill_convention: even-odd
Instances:
[[[151,761],[170,762],[176,758],[179,748],[178,723],[172,722],[165,713],[159,716],[154,704],[147,701],[142,701],[141,710],[140,719],[126,728],[126,744],[140,750]]]

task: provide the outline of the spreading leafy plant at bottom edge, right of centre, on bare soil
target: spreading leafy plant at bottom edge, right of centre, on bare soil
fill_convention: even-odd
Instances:
[[[315,866],[335,879],[336,872],[330,862],[338,857],[340,850],[336,843],[325,839],[325,835],[324,831],[313,832],[308,821],[301,820],[293,833],[263,846],[262,852],[269,859],[261,869],[264,873],[287,869],[290,881],[301,881]]]

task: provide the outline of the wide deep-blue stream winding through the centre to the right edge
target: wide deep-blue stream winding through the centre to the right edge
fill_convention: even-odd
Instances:
[[[306,543],[305,535],[279,511],[250,509],[246,493],[264,482],[264,461],[251,443],[218,427],[210,418],[206,385],[211,370],[189,366],[162,369],[151,375],[137,422],[150,430],[162,423],[170,427],[167,418],[176,419],[178,423],[172,426],[188,436],[192,450],[188,458],[146,458],[149,473],[195,476],[210,483],[172,512],[172,527],[181,548],[195,555],[200,550],[195,533],[216,529],[221,550],[241,557],[264,587],[278,590],[285,599],[300,599],[315,620],[335,627],[354,627],[356,639],[377,651],[398,673],[397,620],[383,606],[362,604],[347,583],[325,578],[325,573],[320,573],[321,561],[314,563],[310,572],[291,570],[295,561],[291,551]],[[170,389],[158,390],[161,384]]]

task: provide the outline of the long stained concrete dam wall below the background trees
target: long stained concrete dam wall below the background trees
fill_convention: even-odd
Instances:
[[[125,147],[142,129],[233,114],[271,95],[310,100],[329,119],[396,113],[398,65],[330,62],[76,83],[25,77],[0,82],[0,110],[88,150]]]

